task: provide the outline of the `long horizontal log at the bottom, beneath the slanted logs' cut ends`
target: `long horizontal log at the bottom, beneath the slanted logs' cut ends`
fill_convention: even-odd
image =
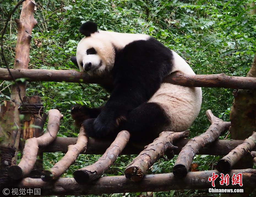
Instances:
[[[42,179],[25,178],[17,185],[19,188],[41,188],[43,196],[63,196],[63,195],[88,195],[88,194],[112,194],[112,193],[132,193],[132,192],[160,192],[169,190],[190,190],[212,188],[208,178],[213,172],[220,177],[217,170],[201,172],[189,172],[186,179],[176,179],[173,173],[146,175],[140,182],[134,182],[125,176],[104,176],[99,179],[80,185],[74,178],[60,178],[56,181],[44,182]],[[232,185],[231,177],[233,173],[242,173],[243,187]],[[220,185],[220,178],[215,181],[216,188],[236,188],[255,187],[256,170],[242,169],[232,170],[230,173],[230,184]]]

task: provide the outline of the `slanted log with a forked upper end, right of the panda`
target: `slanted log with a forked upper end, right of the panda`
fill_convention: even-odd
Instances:
[[[187,175],[194,156],[202,147],[214,142],[225,130],[230,127],[230,122],[224,122],[222,119],[217,118],[213,115],[211,110],[207,110],[206,115],[211,122],[210,127],[205,133],[190,139],[190,141],[182,148],[178,155],[173,167],[173,174],[178,178],[183,178]]]

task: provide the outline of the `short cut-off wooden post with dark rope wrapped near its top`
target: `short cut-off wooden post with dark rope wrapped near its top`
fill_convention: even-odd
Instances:
[[[25,106],[20,106],[20,113],[24,115],[22,121],[22,130],[20,135],[20,149],[23,149],[24,142],[33,137],[40,137],[43,135],[43,126],[45,123],[46,115],[43,116],[43,106],[41,104],[40,96],[24,96],[23,102]],[[33,106],[33,104],[37,104]],[[40,112],[39,112],[40,110]],[[39,175],[43,169],[43,153],[38,153],[37,161],[32,171],[33,175]]]

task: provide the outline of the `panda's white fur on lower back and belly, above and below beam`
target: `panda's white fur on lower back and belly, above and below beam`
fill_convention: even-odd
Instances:
[[[195,75],[187,62],[173,52],[173,72]],[[162,83],[148,102],[159,104],[168,116],[169,124],[165,130],[181,132],[188,129],[198,116],[202,102],[200,87],[184,87]]]

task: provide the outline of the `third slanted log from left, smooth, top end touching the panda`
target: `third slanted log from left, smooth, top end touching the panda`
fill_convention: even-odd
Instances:
[[[79,184],[84,184],[88,181],[95,180],[106,172],[109,167],[115,162],[118,155],[122,152],[127,142],[129,141],[130,133],[121,131],[116,136],[116,139],[106,150],[106,152],[92,165],[88,165],[79,170],[76,170],[73,175]]]

